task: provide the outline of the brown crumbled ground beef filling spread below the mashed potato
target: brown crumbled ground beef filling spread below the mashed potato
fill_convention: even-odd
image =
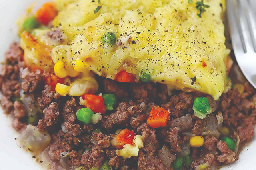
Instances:
[[[51,34],[49,34],[51,36]],[[59,38],[59,37],[57,37]],[[14,43],[6,53],[6,64],[2,66],[0,87],[3,97],[1,106],[6,114],[13,114],[13,127],[18,131],[26,128],[28,114],[19,100],[20,92],[32,95],[34,103],[42,110],[40,120],[35,124],[42,131],[51,135],[48,155],[52,169],[60,168],[61,153],[69,152],[66,164],[100,168],[108,160],[110,166],[119,170],[164,170],[168,169],[158,153],[166,145],[173,155],[178,156],[184,144],[193,135],[202,135],[206,122],[194,116],[193,101],[202,94],[174,91],[168,95],[162,84],[128,84],[98,77],[103,87],[101,92],[115,94],[120,101],[117,108],[102,115],[98,124],[84,125],[76,118],[76,112],[82,106],[77,97],[62,97],[44,86],[40,72],[28,72],[20,81],[19,70],[24,69],[23,51]],[[254,136],[256,115],[256,92],[248,82],[240,94],[236,89],[222,94],[216,101],[216,108],[210,116],[223,114],[223,124],[230,130],[230,136],[240,139],[240,147]],[[166,127],[151,128],[146,120],[152,106],[162,106],[170,113]],[[187,126],[174,126],[173,120],[188,116]],[[93,132],[101,128],[102,132]],[[128,128],[142,136],[144,146],[138,157],[125,159],[116,154],[116,148],[110,144],[117,129]],[[187,169],[196,169],[207,163],[210,166],[229,164],[238,159],[238,152],[230,150],[219,136],[204,134],[204,145],[190,148],[192,163]],[[173,161],[173,160],[172,160]],[[169,168],[170,169],[170,168]]]

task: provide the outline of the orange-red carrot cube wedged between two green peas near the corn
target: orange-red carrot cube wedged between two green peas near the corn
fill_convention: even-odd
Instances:
[[[85,94],[82,96],[85,100],[85,107],[90,108],[94,113],[104,114],[106,111],[104,100],[102,96],[97,96],[94,94]]]

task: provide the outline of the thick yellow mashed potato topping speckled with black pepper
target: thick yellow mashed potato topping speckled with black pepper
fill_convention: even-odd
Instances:
[[[205,0],[210,8],[202,18],[195,2],[187,0],[54,2],[59,13],[53,25],[64,33],[62,41],[49,40],[47,29],[34,30],[33,35],[68,72],[89,69],[111,79],[122,70],[136,77],[147,72],[152,82],[169,89],[200,91],[214,99],[224,91],[229,53],[224,45],[224,0]],[[102,40],[108,32],[116,36],[114,45]],[[84,63],[84,69],[77,63]]]

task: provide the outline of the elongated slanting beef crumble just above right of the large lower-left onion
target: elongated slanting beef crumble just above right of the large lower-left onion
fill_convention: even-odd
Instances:
[[[44,117],[39,120],[38,128],[40,130],[46,130],[46,128],[57,123],[59,116],[59,108],[56,102],[47,106],[43,111]]]

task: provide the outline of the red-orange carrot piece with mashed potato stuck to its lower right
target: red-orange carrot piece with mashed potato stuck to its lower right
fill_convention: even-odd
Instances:
[[[124,129],[119,132],[116,136],[116,148],[122,149],[125,144],[130,144],[133,146],[134,132],[129,129]]]

